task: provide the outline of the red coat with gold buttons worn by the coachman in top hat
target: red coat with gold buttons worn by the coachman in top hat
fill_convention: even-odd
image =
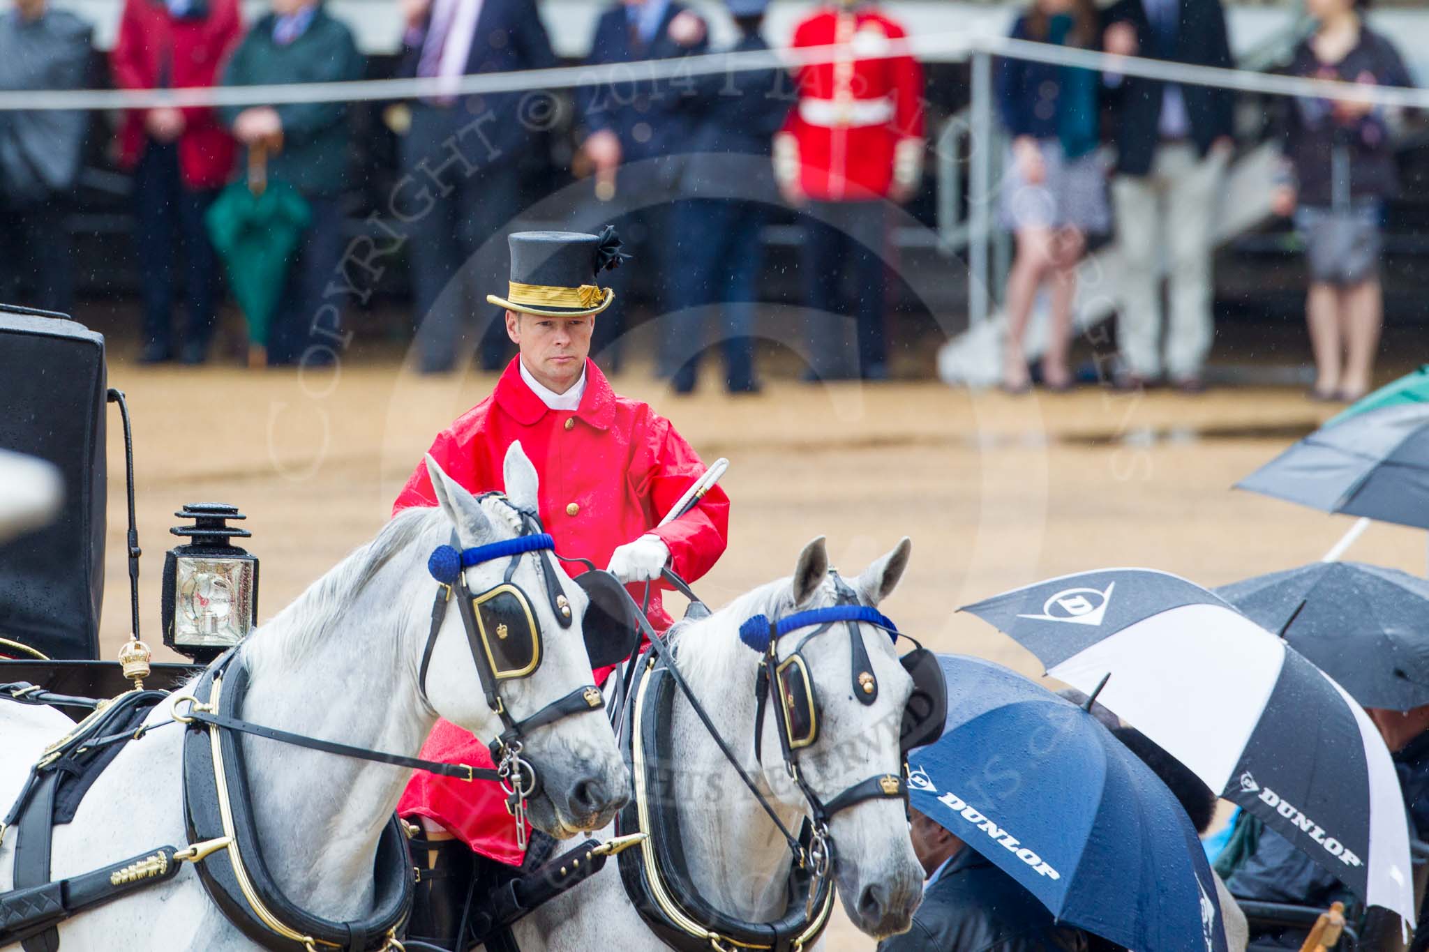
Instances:
[[[519,360],[510,363],[490,397],[437,434],[429,452],[447,475],[473,492],[500,490],[506,450],[520,440],[540,474],[542,525],[556,538],[562,555],[604,567],[617,545],[650,532],[664,541],[672,568],[682,578],[694,581],[707,572],[725,552],[729,497],[723,490],[714,487],[690,512],[653,528],[704,472],[704,464],[670,421],[649,404],[617,397],[589,360],[580,407],[550,410],[522,380]],[[424,462],[397,495],[393,512],[412,505],[436,505]],[[563,565],[567,572],[580,571],[572,562]],[[643,588],[630,587],[639,591],[637,599]],[[659,631],[670,627],[659,589],[652,591],[649,618]],[[596,671],[596,682],[609,672]],[[492,765],[486,745],[447,721],[437,721],[422,756]],[[524,858],[496,784],[419,772],[397,812],[430,816],[492,859],[517,865]]]

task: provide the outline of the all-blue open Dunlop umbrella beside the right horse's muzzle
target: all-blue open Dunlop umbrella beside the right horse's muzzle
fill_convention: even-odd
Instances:
[[[909,755],[919,812],[1060,922],[1137,952],[1226,948],[1216,883],[1175,794],[1095,716],[980,658],[939,655],[947,724]]]

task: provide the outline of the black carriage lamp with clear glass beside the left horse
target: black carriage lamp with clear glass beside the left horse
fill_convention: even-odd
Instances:
[[[193,525],[169,530],[190,541],[164,555],[164,644],[209,664],[257,624],[259,559],[230,544],[253,534],[229,525],[247,518],[236,505],[189,502],[174,515]]]

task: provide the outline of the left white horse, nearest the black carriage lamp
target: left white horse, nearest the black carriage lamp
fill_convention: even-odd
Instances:
[[[437,584],[430,552],[450,540],[463,547],[520,534],[510,505],[479,501],[429,457],[439,510],[393,518],[297,601],[254,631],[242,648],[250,689],[240,716],[260,724],[414,756],[442,715],[483,741],[500,731],[487,708],[454,602],[437,634],[426,692],[419,665],[432,624]],[[536,511],[537,477],[519,444],[504,462],[512,504]],[[473,592],[497,585],[509,559],[473,565]],[[586,597],[564,572],[560,585],[579,619]],[[543,634],[540,667],[503,681],[512,716],[529,716],[590,682],[582,628],[560,628],[534,558],[522,558],[516,584],[533,594]],[[147,724],[169,719],[160,705]],[[41,748],[73,726],[51,708],[0,702],[0,811],[19,794]],[[74,822],[54,828],[51,876],[97,869],[161,845],[184,845],[180,742],[184,728],[156,726],[130,741],[94,782]],[[249,785],[259,818],[263,858],[296,905],[327,919],[352,921],[373,908],[372,872],[379,835],[390,821],[410,769],[336,756],[243,736]],[[539,772],[542,792],[532,822],[556,836],[604,826],[630,785],[603,711],[539,726],[522,755]],[[480,782],[480,781],[477,781]],[[13,883],[14,841],[0,845],[0,891]],[[60,926],[61,946],[83,949],[253,949],[203,891],[191,865],[149,889],[81,912]]]

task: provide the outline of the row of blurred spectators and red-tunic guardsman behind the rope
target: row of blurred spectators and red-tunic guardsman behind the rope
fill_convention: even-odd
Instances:
[[[454,83],[557,64],[533,0],[400,1],[399,76]],[[767,49],[766,3],[727,1],[733,50]],[[87,24],[47,4],[17,0],[0,19],[0,87],[81,88],[93,79]],[[1308,0],[1316,27],[1295,49],[1289,73],[1409,84],[1392,43],[1369,29],[1362,9],[1363,0]],[[587,63],[707,53],[709,34],[677,0],[624,0],[599,17]],[[1220,0],[1116,0],[1106,9],[1093,0],[1032,0],[1012,36],[1233,66]],[[576,90],[567,164],[593,201],[620,194],[629,210],[613,223],[642,245],[640,277],[663,315],[657,371],[677,391],[694,387],[710,344],[723,354],[730,393],[757,390],[762,233],[779,204],[797,213],[802,228],[806,317],[786,343],[803,348],[806,377],[887,377],[892,210],[920,188],[926,153],[922,69],[910,56],[886,56],[885,46],[902,37],[905,29],[877,3],[837,0],[810,9],[793,34],[795,47],[847,44],[849,54],[832,63],[795,74],[763,69]],[[236,0],[126,0],[109,64],[113,84],[130,90],[364,76],[350,27],[319,0],[272,0],[252,24]],[[1010,143],[1000,224],[1016,236],[1005,390],[1023,393],[1035,380],[1049,390],[1075,384],[1076,268],[1089,241],[1115,236],[1126,267],[1112,383],[1165,381],[1199,393],[1213,337],[1212,241],[1235,148],[1233,94],[1015,59],[997,61],[995,81]],[[532,103],[527,93],[463,96],[453,86],[452,94],[386,111],[400,134],[400,173],[414,183],[407,204],[420,210],[402,214],[394,204],[380,228],[404,244],[423,371],[452,370],[473,327],[483,367],[502,365],[510,353],[494,310],[462,274],[526,211],[522,158],[549,128],[533,118]],[[1368,103],[1310,98],[1282,97],[1276,110],[1285,161],[1275,208],[1293,214],[1308,248],[1306,318],[1318,365],[1310,394],[1353,400],[1370,384],[1379,343],[1379,231],[1396,188],[1393,117]],[[7,293],[21,287],[23,303],[71,308],[74,261],[61,223],[86,130],[80,113],[0,113],[0,203],[11,244],[0,277]],[[353,237],[340,200],[354,134],[342,103],[123,116],[114,154],[133,176],[144,361],[207,358],[224,265],[230,275],[242,270],[214,251],[221,216],[213,206],[224,188],[259,194],[264,183],[284,183],[302,208],[289,216],[294,234],[282,243],[273,313],[262,321],[246,314],[264,327],[256,353],[269,364],[332,357],[334,341],[346,340],[343,308],[330,298],[334,275],[343,275],[344,254],[372,244]],[[1023,340],[1043,295],[1050,334],[1032,365]],[[239,297],[246,311],[257,307]],[[620,314],[617,307],[597,323],[594,343],[614,367],[626,330]]]

